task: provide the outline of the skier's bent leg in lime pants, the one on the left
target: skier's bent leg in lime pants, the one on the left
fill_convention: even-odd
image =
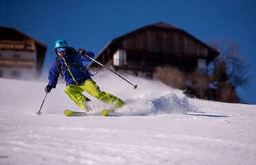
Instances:
[[[81,87],[79,87],[78,85],[68,85],[65,88],[65,93],[67,94],[67,96],[69,96],[71,100],[73,100],[78,105],[78,107],[87,110],[87,108],[85,107],[85,102],[89,99],[82,94],[83,91],[84,90],[81,89]]]

